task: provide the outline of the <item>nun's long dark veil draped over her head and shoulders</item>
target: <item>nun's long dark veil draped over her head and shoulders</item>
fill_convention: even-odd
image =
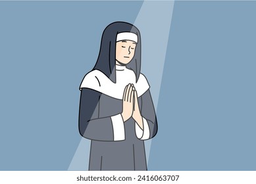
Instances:
[[[141,37],[136,26],[128,22],[113,22],[105,28],[101,37],[101,48],[99,57],[93,70],[100,70],[111,81],[116,82],[116,35],[122,32],[132,32],[138,36],[138,42],[134,57],[126,64],[126,68],[131,69],[136,74],[136,81],[140,76],[141,66]]]

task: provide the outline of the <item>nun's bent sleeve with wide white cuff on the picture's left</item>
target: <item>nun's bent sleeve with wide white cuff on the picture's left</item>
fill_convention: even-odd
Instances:
[[[83,137],[97,141],[122,141],[125,139],[121,114],[99,118],[101,93],[82,88],[79,110],[79,131]]]

